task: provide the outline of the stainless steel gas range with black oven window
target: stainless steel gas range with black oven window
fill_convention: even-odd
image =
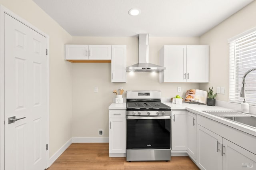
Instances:
[[[126,160],[171,159],[171,108],[161,91],[127,91]]]

